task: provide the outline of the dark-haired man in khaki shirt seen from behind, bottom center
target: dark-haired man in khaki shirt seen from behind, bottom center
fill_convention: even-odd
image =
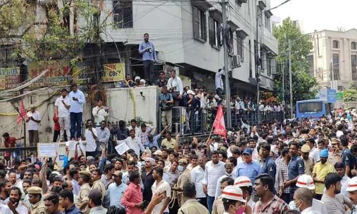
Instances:
[[[178,209],[177,214],[209,214],[205,206],[196,200],[196,187],[192,182],[186,182],[183,185],[183,195],[186,202]]]

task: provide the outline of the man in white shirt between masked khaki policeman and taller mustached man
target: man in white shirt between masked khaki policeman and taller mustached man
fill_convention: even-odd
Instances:
[[[198,158],[199,165],[193,167],[191,170],[191,182],[194,183],[196,187],[196,198],[200,204],[207,207],[207,198],[206,194],[203,192],[203,178],[205,177],[205,159],[204,156],[199,156]]]

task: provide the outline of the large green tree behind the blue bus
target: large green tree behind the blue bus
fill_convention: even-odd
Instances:
[[[295,28],[290,18],[283,20],[279,27],[273,27],[273,35],[278,40],[279,55],[276,57],[276,65],[285,65],[285,82],[282,81],[282,70],[275,76],[275,96],[289,100],[289,49],[288,40],[291,40],[291,70],[292,70],[292,95],[293,103],[299,100],[313,99],[319,91],[319,83],[315,77],[309,74],[311,62],[307,59],[313,48],[308,37]],[[283,84],[286,88],[283,95]]]

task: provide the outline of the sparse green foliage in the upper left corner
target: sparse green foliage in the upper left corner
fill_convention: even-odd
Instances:
[[[0,39],[23,44],[14,45],[13,58],[70,59],[74,65],[88,42],[100,43],[100,34],[106,29],[106,19],[103,22],[99,19],[104,9],[102,2],[53,0],[52,3],[57,2],[64,5],[47,5],[46,15],[41,17],[38,11],[33,13],[37,1],[0,0]],[[70,18],[73,17],[75,23],[71,30]]]

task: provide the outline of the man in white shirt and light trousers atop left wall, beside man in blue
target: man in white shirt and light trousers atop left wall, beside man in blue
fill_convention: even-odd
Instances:
[[[58,117],[58,123],[60,123],[60,140],[64,141],[64,135],[66,131],[66,135],[69,136],[70,130],[69,130],[69,124],[70,124],[70,119],[69,119],[69,108],[71,107],[70,105],[70,100],[67,96],[67,90],[62,89],[61,91],[61,96],[56,99],[56,102],[54,103],[54,114],[55,117]]]

